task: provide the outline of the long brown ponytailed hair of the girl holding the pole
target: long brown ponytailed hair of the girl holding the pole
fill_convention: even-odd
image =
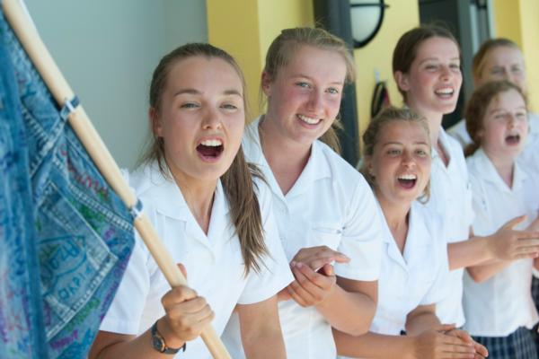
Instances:
[[[152,83],[150,85],[150,108],[159,111],[163,97],[163,90],[166,86],[167,77],[172,66],[188,57],[216,57],[225,60],[232,66],[242,81],[243,105],[247,114],[247,99],[245,94],[245,81],[240,66],[228,53],[220,48],[205,43],[191,43],[172,50],[165,55],[159,65],[155,67]],[[152,138],[149,145],[139,161],[157,162],[159,170],[163,176],[169,177],[168,167],[164,159],[163,138],[156,136],[151,131]],[[264,254],[268,254],[264,242],[264,233],[261,220],[261,209],[255,193],[255,185],[252,182],[254,177],[261,177],[261,171],[252,164],[245,161],[243,149],[240,146],[238,153],[234,157],[230,168],[221,176],[221,182],[225,191],[226,199],[230,204],[230,214],[234,223],[235,232],[240,240],[243,261],[245,263],[245,275],[251,269],[256,272],[261,270],[260,259]]]

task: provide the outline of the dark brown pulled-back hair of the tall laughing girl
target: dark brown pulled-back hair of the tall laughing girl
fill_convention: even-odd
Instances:
[[[397,71],[402,74],[410,72],[411,64],[418,55],[420,45],[430,38],[445,38],[455,42],[460,55],[460,46],[451,31],[438,24],[421,25],[404,32],[393,50],[393,74]],[[397,83],[402,98],[406,101],[406,92],[403,92]]]

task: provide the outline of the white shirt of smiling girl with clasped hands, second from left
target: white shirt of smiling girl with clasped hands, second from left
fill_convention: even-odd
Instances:
[[[337,276],[377,280],[383,219],[366,180],[330,147],[314,141],[304,171],[284,196],[261,151],[259,122],[260,118],[247,127],[243,151],[248,161],[261,167],[270,184],[273,212],[288,260],[303,248],[326,245],[351,258],[348,264],[335,264]],[[279,302],[279,318],[287,357],[336,356],[331,326],[314,307],[302,308],[293,300]],[[228,330],[237,330],[234,317]],[[243,357],[241,347],[231,354]]]

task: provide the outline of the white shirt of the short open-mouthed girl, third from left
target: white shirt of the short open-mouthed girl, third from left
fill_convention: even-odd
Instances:
[[[446,297],[447,245],[441,218],[419,202],[411,205],[403,253],[387,224],[384,227],[378,306],[370,331],[398,336],[411,311]]]

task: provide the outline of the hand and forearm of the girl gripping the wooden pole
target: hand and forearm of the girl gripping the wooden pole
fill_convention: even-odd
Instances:
[[[185,275],[185,268],[179,267]],[[214,318],[206,300],[188,286],[172,288],[163,295],[161,302],[166,314],[158,320],[157,331],[172,348],[179,348],[188,340],[199,337]],[[147,329],[138,337],[100,331],[88,357],[170,358],[170,355],[154,349],[150,329]]]

